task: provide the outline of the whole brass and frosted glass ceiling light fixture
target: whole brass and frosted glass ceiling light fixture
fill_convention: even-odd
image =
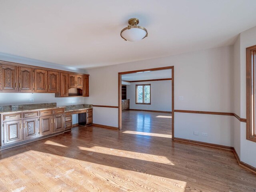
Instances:
[[[144,27],[137,26],[139,24],[137,18],[129,19],[128,24],[128,27],[124,28],[120,34],[124,40],[134,42],[148,36],[148,31]]]

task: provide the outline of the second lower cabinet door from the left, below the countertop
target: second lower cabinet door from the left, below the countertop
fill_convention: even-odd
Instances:
[[[23,120],[24,140],[38,137],[38,118]]]

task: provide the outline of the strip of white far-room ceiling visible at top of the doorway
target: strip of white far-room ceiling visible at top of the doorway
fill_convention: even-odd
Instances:
[[[122,75],[122,80],[126,80],[126,81],[166,79],[166,78],[172,78],[171,69]]]

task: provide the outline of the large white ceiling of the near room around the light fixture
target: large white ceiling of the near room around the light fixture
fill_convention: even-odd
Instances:
[[[78,68],[234,44],[256,0],[0,0],[0,52]],[[148,30],[120,37],[128,19]]]

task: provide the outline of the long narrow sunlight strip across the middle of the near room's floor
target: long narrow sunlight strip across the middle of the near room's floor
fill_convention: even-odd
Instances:
[[[80,150],[86,150],[86,151],[90,151],[90,152],[96,152],[96,153],[114,155],[114,156],[119,156],[119,157],[124,157],[124,158],[132,158],[132,159],[138,159],[138,160],[143,160],[143,161],[150,161],[150,162],[174,165],[165,156],[158,156],[158,155],[145,154],[145,153],[139,153],[139,152],[133,152],[133,151],[126,151],[126,150],[119,150],[119,149],[113,149],[113,148],[106,148],[106,147],[100,147],[100,146],[93,146],[91,148],[78,146],[78,148]]]

